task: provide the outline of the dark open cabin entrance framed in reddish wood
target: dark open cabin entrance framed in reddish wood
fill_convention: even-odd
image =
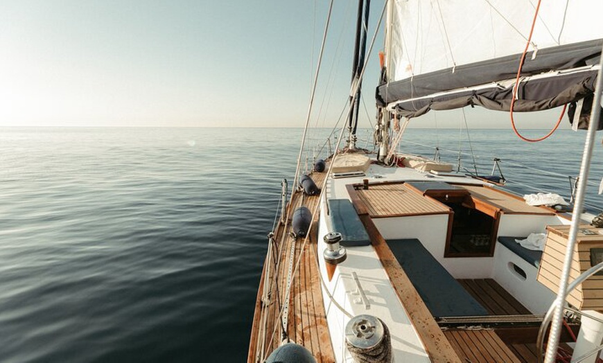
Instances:
[[[449,206],[451,226],[446,243],[446,257],[493,256],[498,224],[491,215],[464,203],[440,201]]]

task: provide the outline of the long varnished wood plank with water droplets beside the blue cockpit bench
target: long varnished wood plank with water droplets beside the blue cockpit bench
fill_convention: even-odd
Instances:
[[[369,215],[360,215],[381,264],[432,362],[461,362]]]

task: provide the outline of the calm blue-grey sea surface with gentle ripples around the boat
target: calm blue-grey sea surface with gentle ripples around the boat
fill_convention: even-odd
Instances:
[[[245,361],[265,236],[301,135],[0,129],[0,361]],[[480,173],[500,157],[512,190],[534,192],[521,182],[567,197],[567,177],[530,168],[577,175],[584,136],[563,130],[534,145],[510,130],[474,130],[471,141]],[[595,207],[601,137],[589,182]],[[457,163],[458,130],[408,130],[404,140],[438,143],[442,159]]]

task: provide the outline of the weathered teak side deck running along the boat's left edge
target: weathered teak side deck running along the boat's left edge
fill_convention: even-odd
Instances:
[[[325,173],[314,173],[311,177],[320,186],[324,180]],[[286,224],[286,229],[283,224],[279,224],[277,231],[274,231],[276,248],[270,263],[268,263],[268,258],[264,263],[256,300],[250,349],[247,355],[248,363],[260,362],[262,357],[265,360],[270,355],[270,352],[281,343],[283,329],[281,328],[281,316],[279,313],[281,311],[281,304],[285,301],[287,290],[286,276],[289,268],[295,269],[295,263],[297,263],[300,254],[302,260],[297,273],[293,276],[290,288],[287,334],[290,341],[301,344],[311,351],[317,362],[335,362],[329,330],[326,325],[326,314],[319,280],[320,276],[317,269],[316,235],[318,213],[314,215],[314,225],[308,243],[304,247],[303,254],[302,245],[304,244],[304,238],[294,240],[288,236],[291,231],[290,218],[293,211],[302,205],[313,211],[318,202],[318,196],[292,193],[291,207],[288,212],[289,222]],[[295,255],[292,258],[292,266],[290,266],[292,244],[295,244]],[[281,261],[281,263],[275,266],[275,261]],[[268,265],[270,269],[268,274],[266,274]],[[278,278],[274,274],[275,267],[278,269]],[[267,305],[261,301],[266,281],[272,281],[270,301]],[[265,321],[262,319],[262,312],[266,316],[264,318]],[[262,339],[263,335],[264,339]],[[261,353],[262,351],[263,354]]]

